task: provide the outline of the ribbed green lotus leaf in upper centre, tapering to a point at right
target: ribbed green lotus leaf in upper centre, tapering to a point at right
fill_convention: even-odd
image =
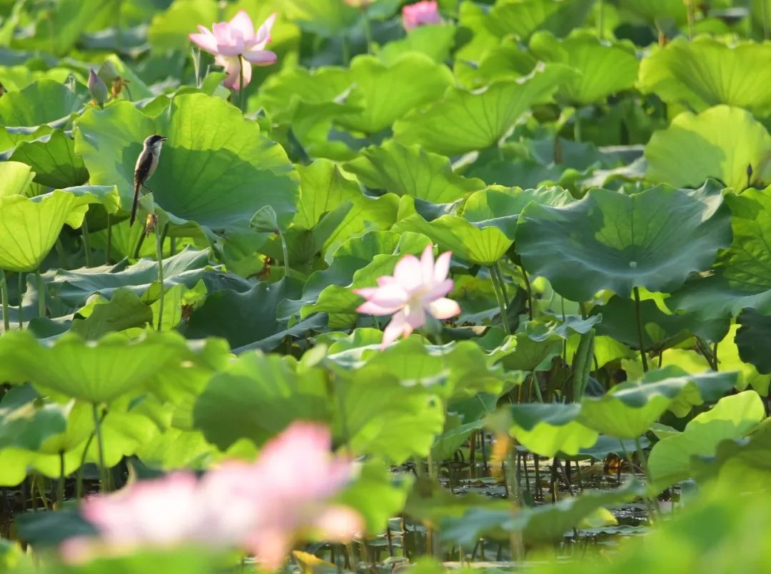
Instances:
[[[370,189],[438,204],[452,203],[485,187],[481,180],[454,174],[446,157],[394,140],[365,148],[345,164],[345,171],[355,174]]]

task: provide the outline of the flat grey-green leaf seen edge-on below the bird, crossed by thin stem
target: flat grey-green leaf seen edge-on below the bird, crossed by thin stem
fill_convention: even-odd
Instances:
[[[163,259],[163,285],[173,289],[175,285],[185,285],[192,289],[204,277],[207,271],[210,252],[185,248],[183,251]],[[101,265],[80,269],[56,269],[46,272],[45,282],[57,298],[66,305],[76,308],[86,306],[87,299],[99,293],[106,299],[122,289],[128,289],[134,295],[144,295],[153,282],[158,280],[158,264],[149,258],[140,259],[134,265],[129,261],[116,265]]]

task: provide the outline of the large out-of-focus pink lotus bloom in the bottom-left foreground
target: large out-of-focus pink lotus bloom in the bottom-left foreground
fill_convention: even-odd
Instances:
[[[82,515],[99,541],[70,539],[62,556],[79,562],[197,543],[246,549],[276,569],[303,535],[346,542],[362,530],[362,518],[328,499],[355,472],[352,461],[330,453],[331,444],[328,429],[298,422],[266,444],[254,463],[228,461],[200,481],[177,472],[87,498]]]

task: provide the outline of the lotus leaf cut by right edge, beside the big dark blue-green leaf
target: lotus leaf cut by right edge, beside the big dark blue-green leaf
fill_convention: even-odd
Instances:
[[[694,278],[669,300],[671,309],[706,318],[738,314],[745,307],[771,313],[771,188],[726,195],[732,212],[731,246],[713,265],[715,272]],[[771,371],[769,371],[771,372]]]

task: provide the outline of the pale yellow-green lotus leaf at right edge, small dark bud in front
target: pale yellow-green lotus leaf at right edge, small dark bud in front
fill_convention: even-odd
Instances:
[[[771,136],[763,124],[746,110],[724,105],[699,115],[679,114],[645,146],[648,179],[675,187],[695,187],[715,177],[741,191],[753,181],[771,179],[769,154]]]

